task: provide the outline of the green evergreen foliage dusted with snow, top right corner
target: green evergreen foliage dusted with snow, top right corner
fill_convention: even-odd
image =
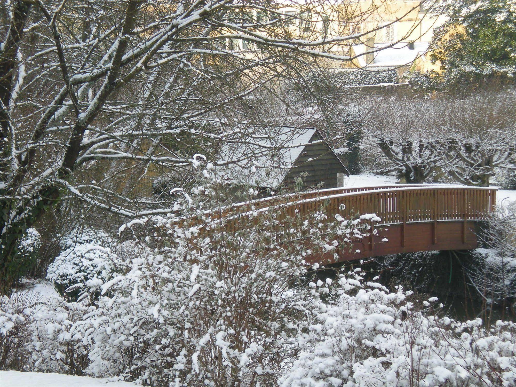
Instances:
[[[431,59],[442,72],[426,74],[425,86],[471,87],[493,77],[516,75],[516,6],[511,0],[453,0],[447,21],[434,32]]]

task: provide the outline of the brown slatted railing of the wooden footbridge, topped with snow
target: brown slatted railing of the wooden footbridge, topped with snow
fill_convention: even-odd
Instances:
[[[351,187],[309,191],[238,203],[218,213],[213,220],[229,215],[225,230],[238,229],[240,216],[251,212],[281,209],[282,218],[308,215],[320,209],[333,218],[341,215],[350,219],[357,215],[376,214],[379,224],[410,222],[439,222],[450,220],[482,220],[494,210],[496,188],[393,185],[382,187]]]

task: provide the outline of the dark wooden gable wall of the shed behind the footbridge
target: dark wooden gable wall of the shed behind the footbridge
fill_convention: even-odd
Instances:
[[[322,140],[322,137],[315,132],[310,142],[318,140]],[[346,168],[325,142],[306,146],[294,163],[294,167],[288,171],[283,183],[293,186],[295,179],[303,172],[308,173],[304,178],[305,187],[322,183],[322,188],[336,187],[337,173],[347,174]]]

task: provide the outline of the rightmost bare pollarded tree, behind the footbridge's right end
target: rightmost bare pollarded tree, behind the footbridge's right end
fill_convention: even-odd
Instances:
[[[442,166],[461,184],[488,186],[495,168],[516,169],[513,89],[434,101],[429,127],[443,142]]]

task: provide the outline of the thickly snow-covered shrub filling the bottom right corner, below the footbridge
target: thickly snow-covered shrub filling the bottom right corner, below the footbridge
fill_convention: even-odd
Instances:
[[[360,270],[360,269],[357,269]],[[433,315],[437,298],[418,310],[411,292],[396,292],[359,272],[300,338],[303,349],[280,378],[282,387],[513,385],[516,326]]]

